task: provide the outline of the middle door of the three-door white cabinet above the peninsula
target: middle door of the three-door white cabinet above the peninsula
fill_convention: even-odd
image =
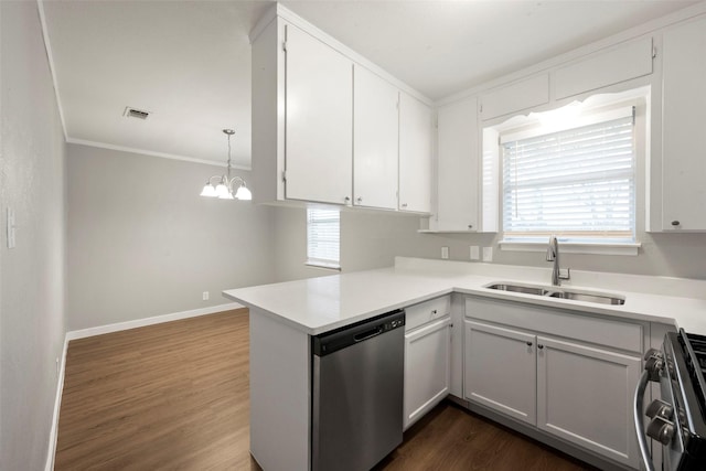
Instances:
[[[353,83],[353,204],[396,210],[399,92],[360,65]]]

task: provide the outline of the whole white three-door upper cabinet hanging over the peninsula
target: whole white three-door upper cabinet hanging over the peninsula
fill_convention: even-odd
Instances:
[[[250,41],[256,203],[430,212],[430,101],[279,3]]]

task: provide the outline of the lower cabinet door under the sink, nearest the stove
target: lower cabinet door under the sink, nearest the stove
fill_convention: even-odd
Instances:
[[[639,357],[537,338],[537,427],[638,468]]]

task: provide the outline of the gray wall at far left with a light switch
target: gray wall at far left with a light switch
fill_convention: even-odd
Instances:
[[[65,146],[36,2],[1,1],[0,17],[0,469],[42,470],[65,332]]]

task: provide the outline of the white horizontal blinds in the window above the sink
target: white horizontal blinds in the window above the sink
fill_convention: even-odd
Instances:
[[[628,109],[619,118],[502,143],[505,239],[634,240],[634,119]]]

